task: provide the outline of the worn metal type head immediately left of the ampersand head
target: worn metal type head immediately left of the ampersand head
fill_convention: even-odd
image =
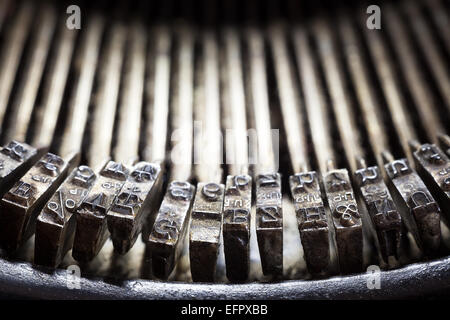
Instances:
[[[292,175],[289,185],[308,271],[313,275],[323,274],[330,264],[330,241],[317,173],[309,171]]]

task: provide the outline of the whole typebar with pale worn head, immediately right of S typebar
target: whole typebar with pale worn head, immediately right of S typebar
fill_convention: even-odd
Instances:
[[[221,184],[222,138],[220,132],[219,66],[214,34],[205,31],[201,38],[203,99],[197,101],[196,116],[205,126],[201,140],[199,183],[192,209],[189,257],[193,281],[213,281],[222,231],[224,185]],[[195,155],[194,155],[195,157]],[[206,182],[204,182],[206,181]]]

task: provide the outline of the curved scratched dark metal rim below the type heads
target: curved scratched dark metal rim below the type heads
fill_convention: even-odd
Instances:
[[[367,289],[369,275],[278,283],[192,284],[150,280],[80,280],[81,289],[66,286],[66,271],[46,273],[30,263],[0,259],[0,292],[35,299],[399,299],[420,298],[450,290],[450,256],[381,272],[381,289]]]

